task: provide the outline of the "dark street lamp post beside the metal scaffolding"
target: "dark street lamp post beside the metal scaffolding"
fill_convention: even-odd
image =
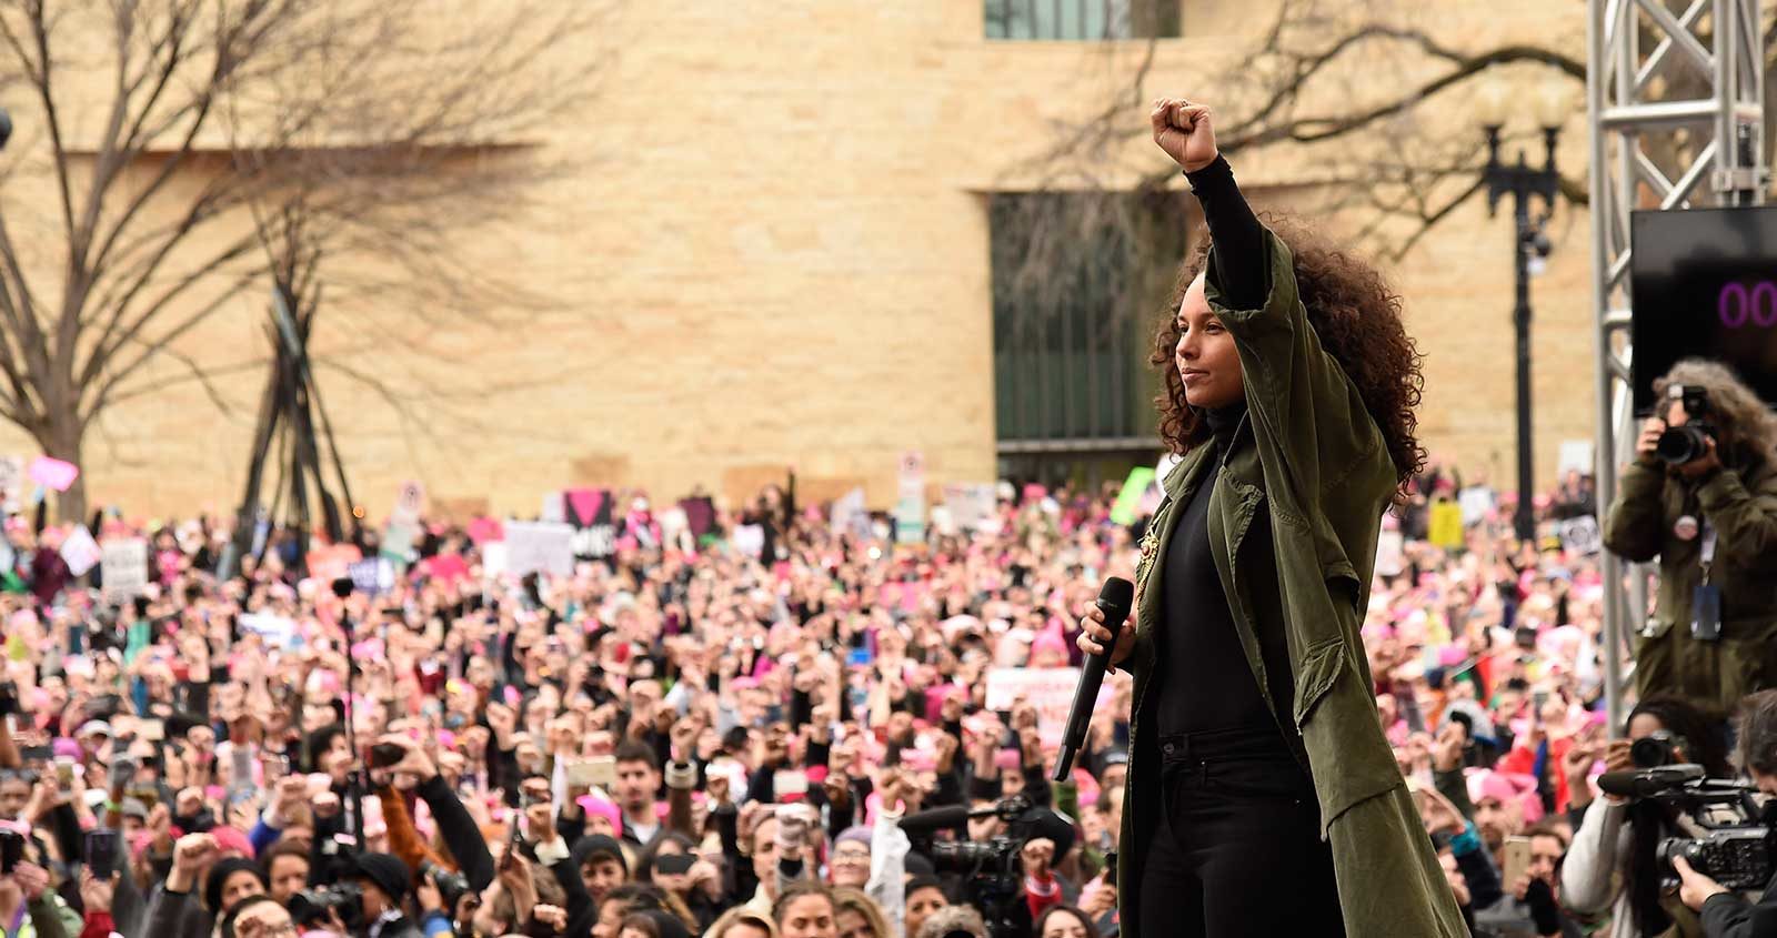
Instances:
[[[1503,103],[1503,101],[1502,101]],[[1482,108],[1484,112],[1489,108]],[[1555,144],[1560,137],[1564,108],[1558,94],[1542,94],[1539,107],[1539,124],[1542,124],[1544,158],[1542,167],[1525,162],[1525,153],[1518,151],[1518,162],[1500,160],[1500,133],[1505,126],[1503,108],[1482,114],[1487,130],[1487,167],[1482,181],[1487,187],[1487,217],[1496,215],[1500,199],[1512,197],[1512,274],[1516,277],[1518,298],[1512,306],[1512,329],[1518,338],[1518,513],[1514,528],[1521,540],[1534,540],[1535,521],[1535,446],[1530,433],[1530,274],[1532,263],[1541,265],[1550,254],[1550,240],[1542,226],[1555,211],[1555,194],[1560,192],[1560,176],[1555,172]],[[1532,199],[1542,199],[1542,213],[1532,215]]]

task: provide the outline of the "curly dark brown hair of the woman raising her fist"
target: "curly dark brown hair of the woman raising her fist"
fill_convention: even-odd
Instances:
[[[1418,441],[1420,419],[1414,414],[1425,375],[1420,370],[1418,345],[1400,320],[1400,295],[1374,266],[1349,250],[1288,219],[1265,215],[1263,220],[1290,247],[1295,286],[1320,346],[1345,370],[1388,441],[1388,457],[1398,481],[1395,501],[1400,501],[1407,483],[1425,465],[1425,448]],[[1180,334],[1178,306],[1203,272],[1208,252],[1210,242],[1203,238],[1180,265],[1166,322],[1153,336],[1153,352],[1148,355],[1148,364],[1160,368],[1166,378],[1166,389],[1153,398],[1160,409],[1160,439],[1178,455],[1210,437],[1203,416],[1185,403],[1185,382],[1173,366]]]

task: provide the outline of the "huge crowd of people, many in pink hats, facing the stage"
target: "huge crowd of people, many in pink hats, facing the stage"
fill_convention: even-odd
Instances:
[[[1537,542],[1494,499],[1432,545],[1462,489],[1434,464],[1384,521],[1400,549],[1363,640],[1464,917],[1690,927],[1647,869],[1651,808],[1592,782],[1631,755],[1603,719],[1598,556],[1553,533],[1598,510],[1589,480],[1537,499]],[[883,517],[798,506],[794,480],[698,540],[620,492],[615,554],[572,576],[485,577],[467,524],[437,522],[375,595],[307,577],[277,537],[219,579],[229,531],[192,521],[142,531],[149,584],[117,599],[69,576],[69,528],[16,515],[0,929],[1116,934],[1127,675],[1061,783],[1047,702],[990,688],[1079,664],[1080,611],[1136,565],[1143,519],[1112,521],[1116,494],[1000,487],[983,524],[896,544]],[[1725,775],[1717,719],[1647,696],[1621,730]]]

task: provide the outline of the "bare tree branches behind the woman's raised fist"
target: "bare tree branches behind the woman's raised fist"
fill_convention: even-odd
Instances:
[[[1690,5],[1658,2],[1672,9],[1674,20]],[[1452,124],[1461,128],[1464,121],[1452,123],[1448,114],[1464,112],[1494,69],[1512,73],[1518,85],[1564,85],[1573,108],[1569,135],[1582,131],[1585,114],[1585,59],[1578,43],[1574,48],[1475,44],[1459,34],[1441,34],[1427,21],[1432,16],[1434,5],[1281,0],[1253,46],[1231,59],[1239,66],[1203,82],[1201,92],[1215,96],[1221,147],[1230,155],[1308,151],[1306,163],[1315,174],[1303,185],[1313,210],[1345,213],[1368,249],[1398,261],[1457,208],[1484,195],[1484,137],[1478,128],[1452,135]],[[1777,18],[1766,16],[1765,46],[1777,66]],[[1656,41],[1649,37],[1644,48],[1654,48]],[[1196,91],[1150,87],[1157,48],[1148,43],[1132,64],[1120,68],[1120,80],[1100,108],[1057,126],[1052,144],[1011,172],[1036,179],[1038,190],[1072,195],[1027,201],[1029,215],[1020,224],[1031,229],[1031,250],[1016,259],[1015,275],[1000,279],[1016,284],[1013,302],[1036,318],[1047,314],[1056,297],[1045,272],[1068,270],[1077,263],[1077,245],[1102,240],[1107,227],[1141,231],[1150,222],[1132,206],[1153,204],[1151,194],[1173,179],[1175,171],[1160,160],[1132,163],[1127,156],[1130,140],[1150,133],[1143,108],[1151,98]],[[1105,55],[1127,50],[1107,46]],[[1683,69],[1669,69],[1660,80],[1670,82],[1674,92],[1704,87],[1704,76]],[[1766,68],[1766,108],[1777,117],[1777,68]],[[1507,149],[1518,144],[1507,135]],[[1525,144],[1532,153],[1541,146]],[[1681,167],[1692,156],[1685,146],[1653,151],[1651,158],[1661,167]],[[1777,146],[1777,135],[1768,135],[1766,146]],[[1562,197],[1585,204],[1585,165],[1566,165],[1562,172]],[[1132,203],[1130,188],[1146,197]],[[1157,263],[1169,266],[1176,254],[1148,250],[1139,236],[1123,243],[1118,266],[1130,274],[1112,286],[1111,307],[1146,313],[1128,302],[1146,297],[1137,272]]]

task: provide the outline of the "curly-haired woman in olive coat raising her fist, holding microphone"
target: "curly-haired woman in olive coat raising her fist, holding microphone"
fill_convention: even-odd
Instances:
[[[1201,103],[1155,103],[1208,245],[1151,362],[1166,476],[1111,661],[1136,675],[1127,938],[1466,934],[1375,716],[1359,627],[1381,515],[1422,464],[1400,298],[1253,215]],[[1112,641],[1080,622],[1089,654]]]

